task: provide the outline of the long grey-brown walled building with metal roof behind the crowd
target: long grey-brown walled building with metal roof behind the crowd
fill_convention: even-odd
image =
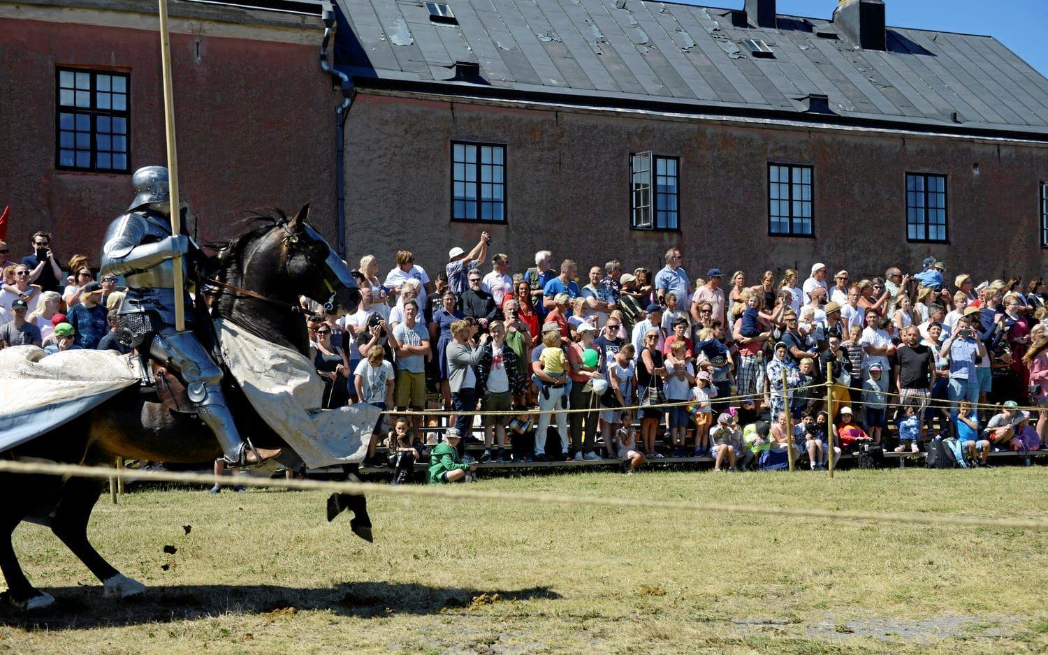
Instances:
[[[678,245],[693,275],[1039,275],[1048,80],[992,37],[826,3],[337,0],[350,259],[433,274],[487,230],[515,270]]]

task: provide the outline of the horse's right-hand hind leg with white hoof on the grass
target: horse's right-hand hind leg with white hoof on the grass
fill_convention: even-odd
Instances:
[[[87,522],[101,490],[102,485],[94,480],[69,480],[54,509],[51,531],[103,582],[107,596],[139,594],[146,586],[113,568],[87,540]]]

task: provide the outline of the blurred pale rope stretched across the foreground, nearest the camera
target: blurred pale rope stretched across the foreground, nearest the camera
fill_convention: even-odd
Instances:
[[[827,519],[832,521],[864,521],[877,523],[907,523],[913,525],[954,525],[963,527],[995,527],[1048,531],[1048,520],[1036,519],[994,519],[942,515],[878,514],[868,511],[809,509],[796,507],[760,507],[755,505],[724,505],[720,503],[693,503],[652,499],[597,498],[592,496],[568,496],[564,494],[529,493],[509,494],[505,492],[484,492],[464,486],[397,485],[374,484],[370,482],[329,482],[323,480],[283,480],[253,478],[249,476],[224,477],[176,472],[141,472],[130,468],[107,466],[81,466],[77,464],[48,464],[44,462],[19,462],[0,460],[0,472],[23,475],[48,475],[93,478],[97,480],[121,479],[126,481],[177,482],[183,484],[219,484],[253,487],[282,487],[303,490],[323,490],[352,496],[372,494],[409,498],[437,498],[447,500],[512,501],[559,505],[589,505],[616,509],[664,509],[689,514],[723,512],[789,517],[799,519]]]

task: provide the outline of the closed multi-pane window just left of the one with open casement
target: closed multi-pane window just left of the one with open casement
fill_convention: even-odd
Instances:
[[[506,221],[506,147],[452,141],[452,220]]]

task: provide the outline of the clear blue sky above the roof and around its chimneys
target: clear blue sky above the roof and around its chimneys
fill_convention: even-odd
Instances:
[[[742,8],[744,0],[677,0]],[[829,19],[836,0],[779,0],[778,13]],[[885,0],[888,24],[996,37],[1048,77],[1048,0]]]

